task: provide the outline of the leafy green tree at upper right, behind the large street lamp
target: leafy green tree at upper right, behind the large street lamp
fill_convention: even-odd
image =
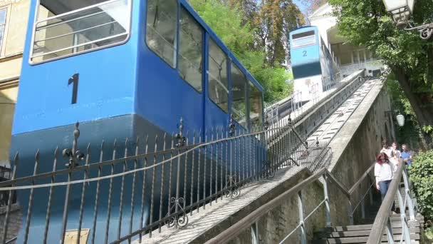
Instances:
[[[338,17],[338,29],[352,44],[366,46],[392,68],[421,128],[433,123],[433,43],[417,31],[397,29],[377,0],[329,0]],[[417,24],[433,16],[433,1],[415,4]],[[427,133],[424,138],[430,141]]]

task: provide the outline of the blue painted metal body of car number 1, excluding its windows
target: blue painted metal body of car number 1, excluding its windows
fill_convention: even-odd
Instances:
[[[20,153],[17,177],[29,176],[33,173],[34,153],[37,148],[41,152],[38,173],[52,171],[54,148],[56,146],[59,149],[71,147],[73,123],[76,121],[80,121],[79,147],[82,151],[87,143],[96,146],[103,140],[106,142],[105,145],[108,145],[107,143],[113,142],[115,138],[137,138],[137,136],[144,137],[146,135],[150,135],[152,138],[155,134],[162,135],[162,133],[170,135],[177,131],[181,117],[184,120],[185,131],[204,131],[206,128],[216,127],[227,128],[231,113],[231,89],[229,113],[225,113],[209,98],[206,72],[203,72],[203,90],[202,93],[199,93],[179,76],[177,68],[167,65],[149,49],[145,41],[146,1],[132,1],[130,36],[124,44],[44,63],[31,64],[29,59],[36,4],[37,1],[31,1],[11,141],[11,155],[14,156],[16,151]],[[206,67],[209,65],[207,43],[212,38],[227,54],[231,62],[236,64],[249,81],[263,92],[260,84],[241,66],[234,54],[231,54],[218,36],[199,18],[192,7],[187,4],[187,1],[179,0],[178,4],[187,9],[204,30],[203,70],[207,70]],[[72,86],[68,86],[68,79],[75,73],[79,73],[80,77],[78,101],[71,104]],[[231,81],[229,81],[229,86],[231,87]],[[249,106],[247,111],[249,111]],[[192,138],[192,133],[189,136]],[[204,138],[204,133],[202,136]],[[119,144],[121,145],[122,141],[119,141]],[[132,148],[133,146],[131,145]],[[118,148],[118,158],[123,156],[122,149],[124,148],[125,146]],[[111,153],[113,146],[107,146],[104,151]],[[110,159],[112,157],[110,153],[105,153],[104,159]],[[93,153],[91,156],[92,161],[99,160],[96,154]],[[258,164],[256,168],[259,168],[261,162],[258,160],[256,162]],[[63,161],[59,161],[57,169],[63,168],[65,168]],[[122,168],[117,168],[116,171],[122,171]],[[109,172],[105,173],[109,174]],[[95,171],[90,172],[89,177],[96,174]],[[83,176],[74,175],[73,178],[83,178]],[[65,178],[56,179],[56,181],[65,180]],[[117,181],[120,179],[115,180],[115,183]],[[127,183],[130,181],[127,180]],[[119,188],[116,189],[119,190]],[[131,189],[125,190],[130,192]],[[46,196],[48,195],[48,188],[38,189],[35,193]],[[71,193],[71,203],[73,204],[71,204],[67,229],[77,228],[74,224],[76,221],[72,220],[78,220],[80,193],[81,186],[75,185]],[[93,185],[88,188],[86,195],[94,197],[94,194],[95,187]],[[118,194],[116,192],[117,196]],[[60,189],[56,191],[55,198],[53,198],[56,210],[53,210],[51,217],[48,243],[58,240],[60,235],[64,195],[64,189]],[[21,203],[24,203],[22,207],[25,215],[28,192],[19,194],[18,198]],[[105,204],[106,200],[101,201]],[[125,199],[125,206],[130,205],[128,200]],[[43,223],[45,223],[46,202],[38,203],[36,200],[33,204],[34,214],[31,225],[33,235],[29,237],[29,243],[40,243],[43,235]],[[88,208],[86,208],[85,214],[93,208],[91,202],[86,203],[86,205]],[[100,211],[103,212],[104,208],[101,207]],[[127,211],[125,210],[125,213]],[[91,215],[90,212],[87,214]],[[99,227],[96,230],[90,230],[96,231],[97,236],[99,236],[96,243],[103,242],[103,235],[105,234],[103,223],[106,220],[106,217],[98,217]],[[113,214],[111,220],[113,223],[118,223],[118,216]],[[90,217],[85,218],[83,228],[88,228],[91,221]],[[127,226],[126,222],[122,225]],[[127,230],[122,230],[122,234],[125,234],[125,231]],[[21,230],[19,242],[23,240],[23,232]],[[110,240],[115,240],[115,234],[110,232]]]

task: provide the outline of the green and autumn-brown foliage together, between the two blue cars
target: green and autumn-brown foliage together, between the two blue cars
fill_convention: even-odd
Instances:
[[[272,102],[291,93],[287,81],[291,74],[282,63],[286,56],[288,31],[293,29],[293,18],[288,11],[299,11],[288,6],[291,1],[276,0],[281,9],[261,9],[268,1],[256,0],[190,0],[195,11],[206,21],[224,44],[235,54],[246,69],[264,86],[265,101]],[[300,13],[300,11],[299,11]],[[287,15],[287,16],[286,16]],[[268,24],[259,19],[269,19]],[[269,29],[270,36],[260,36],[261,30]],[[271,31],[272,30],[272,31]],[[292,77],[293,79],[293,77]]]

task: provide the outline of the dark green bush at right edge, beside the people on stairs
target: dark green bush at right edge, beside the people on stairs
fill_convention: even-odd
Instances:
[[[409,166],[419,210],[433,220],[433,150],[419,153]]]

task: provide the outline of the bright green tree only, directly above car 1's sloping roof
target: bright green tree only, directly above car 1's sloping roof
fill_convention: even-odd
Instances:
[[[242,6],[218,0],[190,0],[195,11],[206,21],[246,69],[264,86],[267,102],[289,96],[290,74],[283,66],[265,62],[266,51],[256,46],[255,29],[244,18]]]

